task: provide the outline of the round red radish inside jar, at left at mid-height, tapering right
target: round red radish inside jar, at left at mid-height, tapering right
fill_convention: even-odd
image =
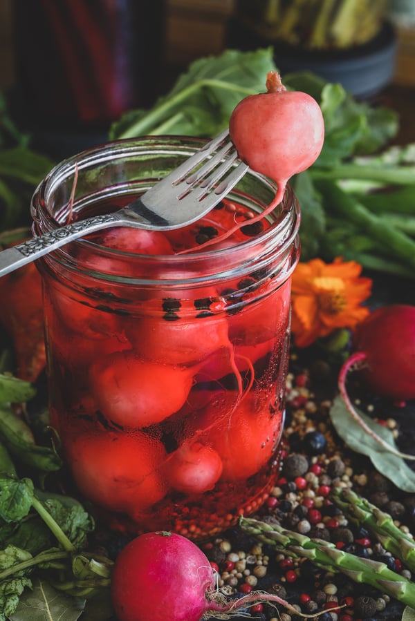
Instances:
[[[116,352],[91,367],[91,394],[107,420],[122,427],[147,427],[180,410],[196,370]]]

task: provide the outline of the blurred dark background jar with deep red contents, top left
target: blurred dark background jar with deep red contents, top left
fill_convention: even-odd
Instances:
[[[15,0],[13,108],[35,142],[66,157],[158,95],[165,0]]]

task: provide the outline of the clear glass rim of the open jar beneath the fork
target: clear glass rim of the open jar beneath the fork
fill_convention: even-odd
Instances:
[[[141,136],[132,139],[129,138],[106,142],[66,158],[66,160],[59,162],[53,167],[53,169],[50,170],[48,175],[46,175],[44,180],[39,184],[33,195],[31,205],[33,234],[37,236],[39,233],[59,229],[59,226],[62,225],[62,221],[59,221],[54,217],[50,217],[51,214],[49,211],[49,205],[50,197],[53,195],[53,192],[59,184],[62,184],[64,180],[68,180],[68,178],[71,177],[75,179],[80,172],[93,169],[93,166],[96,164],[105,164],[106,162],[113,164],[113,162],[116,162],[117,160],[122,160],[122,158],[125,157],[132,157],[133,155],[141,153],[141,151],[142,153],[151,153],[151,155],[156,153],[161,156],[181,155],[184,157],[190,157],[190,155],[196,151],[196,148],[201,148],[201,146],[206,144],[206,142],[208,142],[208,140],[201,137],[177,135]],[[255,178],[256,182],[268,187],[270,195],[275,193],[275,182],[266,178],[264,175],[256,173],[250,169],[248,169],[246,175],[250,175],[250,177]],[[154,182],[156,181],[157,179],[154,180]],[[154,182],[152,184],[154,184]],[[149,187],[151,187],[151,184]],[[238,194],[237,188],[238,184],[237,187],[228,195],[233,197],[235,202],[249,200],[252,198],[247,195]],[[266,206],[266,204],[261,206],[257,204],[258,209],[260,207],[261,209],[264,209]],[[101,254],[107,257],[114,258],[118,256],[124,259],[128,258],[129,260],[136,260],[139,258],[140,261],[148,263],[163,258],[163,262],[176,267],[182,265],[183,261],[192,261],[196,263],[203,262],[203,264],[205,264],[210,258],[214,258],[216,261],[222,260],[226,264],[230,260],[230,256],[235,257],[237,254],[241,254],[242,252],[243,254],[246,254],[247,257],[255,256],[256,258],[257,255],[255,252],[259,247],[264,247],[264,245],[267,248],[267,252],[272,249],[275,253],[276,249],[279,248],[279,251],[282,254],[284,254],[287,247],[291,246],[298,233],[300,214],[297,199],[290,184],[287,184],[282,206],[279,207],[279,213],[275,210],[275,213],[273,212],[270,216],[273,218],[273,222],[271,222],[268,228],[264,229],[255,236],[248,237],[246,240],[241,241],[237,245],[219,248],[215,248],[213,245],[205,250],[199,250],[196,248],[194,252],[187,251],[186,254],[138,254],[136,252],[104,247],[93,242],[92,240],[82,238],[71,242],[70,245],[74,248],[87,248],[95,254]],[[68,254],[65,246],[45,256],[43,260],[46,262],[57,261],[58,264],[62,263],[62,265],[65,265],[70,269],[80,269],[80,265],[75,266],[73,258],[71,257],[71,254]],[[233,265],[233,261],[231,261],[231,264]],[[226,271],[228,271],[228,269]]]

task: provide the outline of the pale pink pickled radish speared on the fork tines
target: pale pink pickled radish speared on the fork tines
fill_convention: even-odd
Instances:
[[[266,79],[267,93],[249,95],[232,112],[230,139],[239,157],[278,186],[281,202],[288,179],[308,169],[320,155],[324,120],[315,99],[286,90],[276,71]]]

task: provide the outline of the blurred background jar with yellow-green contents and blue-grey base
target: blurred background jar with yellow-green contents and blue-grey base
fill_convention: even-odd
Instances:
[[[282,74],[310,71],[360,99],[375,97],[395,72],[387,0],[236,0],[226,46],[273,46]]]

